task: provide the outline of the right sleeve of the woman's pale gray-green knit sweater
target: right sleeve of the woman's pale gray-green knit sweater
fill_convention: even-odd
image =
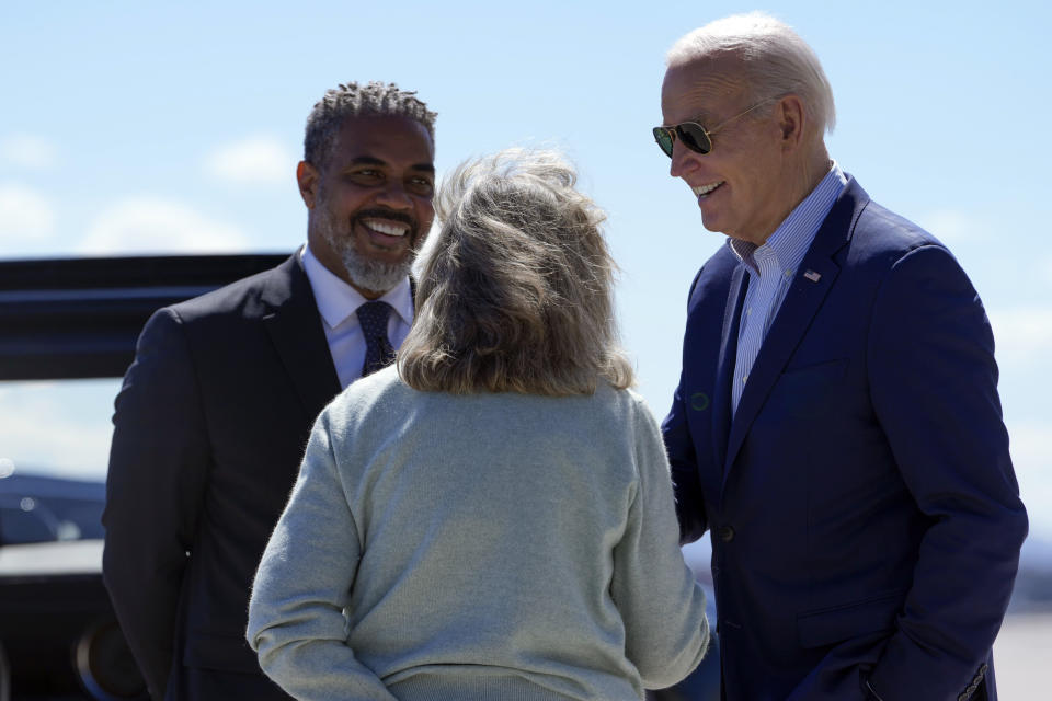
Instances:
[[[638,490],[614,550],[610,593],[625,621],[626,653],[648,688],[672,686],[708,647],[705,593],[679,550],[668,459],[653,414],[634,405]]]

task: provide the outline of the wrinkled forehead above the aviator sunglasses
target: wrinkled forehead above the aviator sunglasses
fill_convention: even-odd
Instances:
[[[725,118],[748,95],[744,66],[740,59],[722,57],[696,58],[676,64],[665,71],[661,87],[661,113],[665,124],[689,119]]]

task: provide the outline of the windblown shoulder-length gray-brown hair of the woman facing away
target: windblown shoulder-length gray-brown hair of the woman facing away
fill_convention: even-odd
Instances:
[[[462,163],[435,198],[399,374],[424,391],[588,394],[632,383],[617,347],[605,215],[553,151]]]

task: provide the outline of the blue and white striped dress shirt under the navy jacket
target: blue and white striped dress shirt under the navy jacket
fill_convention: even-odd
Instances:
[[[786,299],[797,268],[845,185],[847,177],[834,162],[822,182],[797,205],[763,245],[757,246],[741,239],[727,240],[731,251],[748,272],[748,290],[742,304],[734,382],[731,387],[731,407],[734,412],[737,411],[753,363]]]

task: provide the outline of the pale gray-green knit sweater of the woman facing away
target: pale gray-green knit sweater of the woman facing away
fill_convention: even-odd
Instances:
[[[319,416],[248,640],[298,699],[640,699],[708,642],[668,462],[629,390],[419,392]]]

